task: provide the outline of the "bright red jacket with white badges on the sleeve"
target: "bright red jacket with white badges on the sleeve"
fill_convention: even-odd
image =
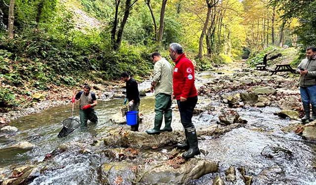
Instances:
[[[180,100],[180,97],[196,97],[194,66],[191,60],[183,53],[173,62],[176,63],[173,70],[173,95],[177,100]]]

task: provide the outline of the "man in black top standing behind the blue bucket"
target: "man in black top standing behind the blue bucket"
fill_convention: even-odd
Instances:
[[[138,132],[139,126],[139,91],[138,84],[134,78],[131,78],[126,72],[120,75],[121,80],[126,82],[126,98],[128,100],[128,110],[137,111],[137,123],[131,126],[131,131]]]

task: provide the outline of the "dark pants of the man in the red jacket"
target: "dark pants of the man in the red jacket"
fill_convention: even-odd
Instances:
[[[180,102],[180,100],[177,100],[177,104],[180,111],[181,123],[183,127],[186,130],[195,128],[192,123],[192,116],[194,108],[197,105],[197,96],[188,98],[185,102]]]

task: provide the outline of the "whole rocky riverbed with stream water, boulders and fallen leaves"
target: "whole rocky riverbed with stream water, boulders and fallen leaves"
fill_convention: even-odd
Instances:
[[[140,132],[129,131],[118,91],[99,88],[99,122],[58,139],[71,105],[12,119],[0,131],[0,182],[17,184],[306,185],[316,182],[315,123],[302,125],[298,76],[229,64],[197,74],[193,121],[201,154],[185,160],[173,102],[173,132],[150,136],[154,96],[141,99]],[[148,88],[148,81],[140,84]],[[106,95],[108,94],[108,95]],[[102,97],[105,96],[105,99]],[[104,101],[102,101],[104,100]],[[75,114],[78,114],[76,104]]]

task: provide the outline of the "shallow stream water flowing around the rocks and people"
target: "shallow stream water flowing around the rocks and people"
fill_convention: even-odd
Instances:
[[[201,73],[198,75],[197,86],[217,77],[214,73]],[[145,82],[148,83],[148,82]],[[141,84],[141,87],[148,87]],[[154,96],[149,94],[141,99],[140,112],[146,119],[154,118]],[[18,165],[26,165],[43,161],[45,154],[52,152],[63,143],[80,142],[88,145],[106,135],[114,125],[110,120],[115,114],[119,114],[119,108],[123,99],[110,99],[99,101],[96,111],[99,122],[88,124],[87,128],[79,128],[66,138],[59,139],[57,135],[62,128],[63,119],[71,115],[71,105],[59,106],[37,114],[28,115],[12,120],[11,126],[19,129],[15,135],[0,135],[0,170],[8,174],[10,169]],[[200,97],[198,106],[207,105],[210,102],[214,107],[220,106],[218,101]],[[175,105],[173,105],[174,107]],[[75,115],[78,114],[75,108]],[[246,174],[253,176],[254,185],[312,185],[316,184],[315,174],[315,143],[302,140],[302,138],[289,127],[295,122],[282,119],[273,113],[278,108],[238,108],[236,111],[240,117],[247,120],[245,127],[234,129],[219,137],[202,136],[199,138],[199,148],[207,151],[203,156],[206,159],[218,161],[220,172],[207,174],[198,180],[192,180],[190,185],[212,184],[216,175],[225,177],[224,171],[229,166],[236,168],[244,166]],[[216,109],[211,114],[194,116],[193,120],[197,130],[216,124],[219,111]],[[173,128],[182,130],[179,123],[179,113],[174,111]],[[151,125],[141,125],[145,130]],[[127,127],[126,127],[127,128]],[[34,145],[29,151],[7,150],[5,148],[28,141]],[[91,146],[91,153],[64,152],[54,158],[56,169],[47,170],[40,174],[32,184],[101,184],[99,168],[108,159],[101,152],[102,147]],[[58,168],[60,167],[60,168]],[[226,182],[227,184],[230,184]],[[237,171],[236,185],[243,185],[240,173]]]

